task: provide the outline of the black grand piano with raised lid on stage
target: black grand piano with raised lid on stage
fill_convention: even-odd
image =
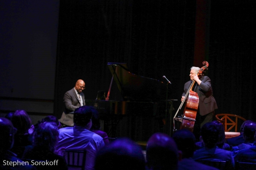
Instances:
[[[170,133],[173,107],[167,99],[168,83],[133,74],[126,63],[109,62],[108,68],[112,75],[109,90],[98,91],[96,100],[86,100],[86,105],[99,111],[108,136],[147,141],[155,132]],[[121,100],[113,100],[113,81]]]

